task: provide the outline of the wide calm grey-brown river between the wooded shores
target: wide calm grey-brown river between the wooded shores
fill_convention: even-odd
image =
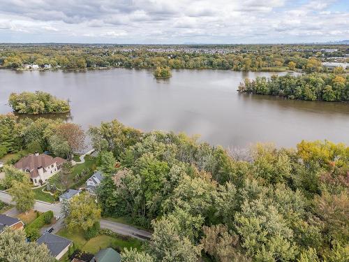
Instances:
[[[172,71],[154,79],[149,70],[96,71],[0,70],[0,113],[11,92],[42,90],[69,99],[71,121],[84,129],[118,119],[143,131],[200,134],[214,145],[246,147],[274,142],[294,147],[302,139],[349,144],[349,103],[292,101],[239,94],[244,78],[267,72]]]

